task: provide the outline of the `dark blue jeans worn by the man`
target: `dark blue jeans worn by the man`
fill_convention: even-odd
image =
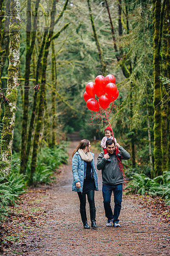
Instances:
[[[114,212],[111,209],[111,195],[114,195]],[[117,185],[103,184],[102,185],[103,204],[105,208],[105,216],[108,219],[113,219],[114,222],[119,222],[119,214],[122,204],[122,183]]]

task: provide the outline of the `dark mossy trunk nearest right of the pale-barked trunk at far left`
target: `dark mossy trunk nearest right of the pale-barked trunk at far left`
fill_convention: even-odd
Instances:
[[[25,66],[25,84],[24,84],[24,102],[23,102],[23,124],[21,134],[21,166],[20,172],[26,172],[26,164],[28,155],[26,154],[27,143],[27,126],[28,126],[28,105],[29,105],[29,76],[30,76],[30,64],[31,55],[34,49],[36,31],[37,31],[37,10],[40,0],[36,1],[34,12],[34,26],[33,32],[31,32],[31,0],[27,0],[27,26],[26,26],[26,66]],[[32,37],[31,37],[32,35]]]

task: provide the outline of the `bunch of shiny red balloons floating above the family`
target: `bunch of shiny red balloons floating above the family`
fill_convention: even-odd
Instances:
[[[108,76],[96,76],[95,83],[89,82],[85,86],[83,95],[88,109],[91,111],[99,111],[107,109],[109,104],[119,96],[119,91],[115,85],[116,78],[109,74]],[[95,99],[95,95],[99,98]]]

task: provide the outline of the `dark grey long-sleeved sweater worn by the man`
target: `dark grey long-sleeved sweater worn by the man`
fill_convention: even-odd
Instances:
[[[123,148],[119,147],[119,153],[122,155],[122,159],[128,160],[130,154]],[[109,154],[111,162],[105,159],[104,152],[100,153],[97,158],[97,169],[102,170],[102,183],[103,184],[119,184],[123,183],[123,176],[119,169],[118,160],[115,152]]]

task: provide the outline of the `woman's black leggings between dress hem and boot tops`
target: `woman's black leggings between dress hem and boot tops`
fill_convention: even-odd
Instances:
[[[86,194],[88,196],[88,203],[90,209],[95,208],[95,203],[94,203],[94,190],[88,191],[86,194],[82,194],[82,192],[77,192],[79,196],[79,201],[80,201],[80,209],[85,210],[85,205],[86,205]]]

